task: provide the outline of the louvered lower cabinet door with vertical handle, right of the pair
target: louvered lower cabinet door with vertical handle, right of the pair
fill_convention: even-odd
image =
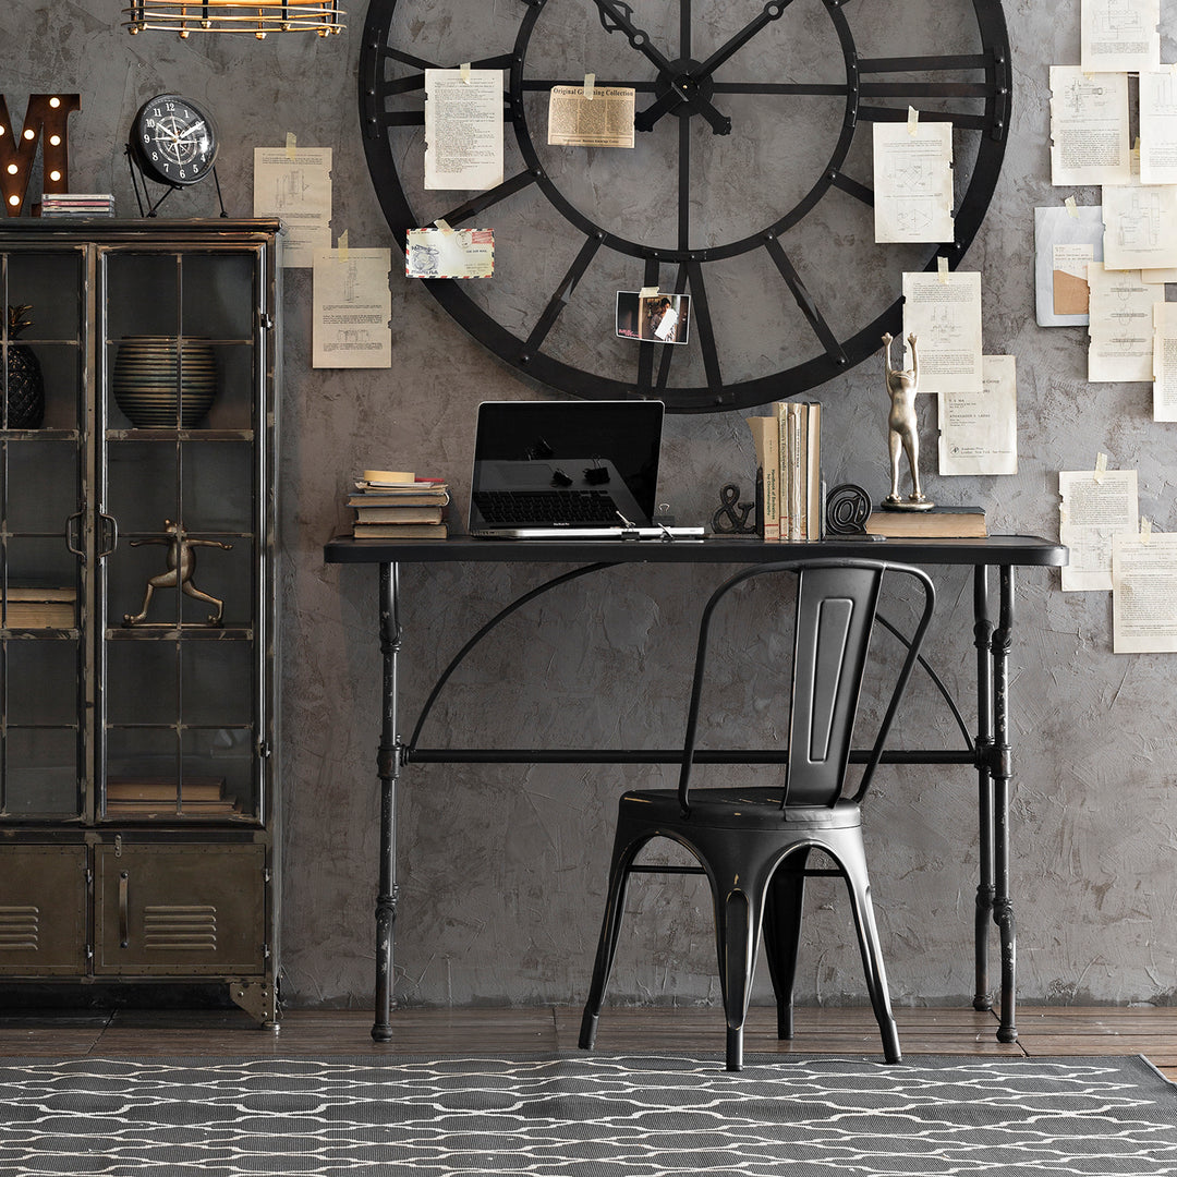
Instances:
[[[265,963],[262,846],[95,849],[95,973],[257,973]]]

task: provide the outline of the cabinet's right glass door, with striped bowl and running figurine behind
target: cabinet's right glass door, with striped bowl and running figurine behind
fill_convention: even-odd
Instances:
[[[261,818],[259,252],[102,255],[100,817]]]

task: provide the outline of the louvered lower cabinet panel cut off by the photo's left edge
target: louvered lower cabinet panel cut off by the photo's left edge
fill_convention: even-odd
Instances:
[[[86,971],[86,847],[0,851],[0,976]]]

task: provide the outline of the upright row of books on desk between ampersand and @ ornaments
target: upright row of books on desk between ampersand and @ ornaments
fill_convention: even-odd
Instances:
[[[769,417],[750,417],[747,424],[759,466],[764,539],[820,539],[822,406],[813,400],[782,400]]]

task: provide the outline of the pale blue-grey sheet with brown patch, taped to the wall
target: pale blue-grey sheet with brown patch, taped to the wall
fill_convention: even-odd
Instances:
[[[1088,265],[1103,261],[1103,207],[1036,208],[1035,310],[1039,327],[1084,327],[1091,290]]]

